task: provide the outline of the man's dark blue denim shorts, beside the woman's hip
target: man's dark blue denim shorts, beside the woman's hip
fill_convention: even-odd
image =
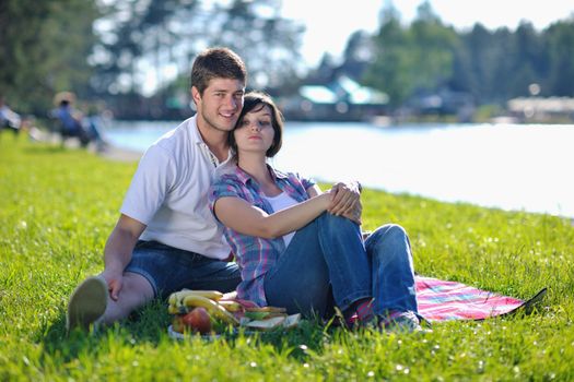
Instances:
[[[143,240],[136,244],[124,272],[145,277],[154,296],[162,298],[184,288],[232,291],[242,278],[236,263]]]

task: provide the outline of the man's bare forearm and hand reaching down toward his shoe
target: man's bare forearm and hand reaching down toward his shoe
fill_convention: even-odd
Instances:
[[[121,214],[107,239],[104,249],[105,270],[103,276],[107,282],[109,296],[113,300],[118,299],[122,287],[124,268],[129,264],[131,252],[144,229],[143,223]]]

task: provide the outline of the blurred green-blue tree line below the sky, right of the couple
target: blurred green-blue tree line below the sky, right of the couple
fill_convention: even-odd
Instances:
[[[480,23],[465,32],[445,25],[429,2],[408,26],[383,10],[372,36],[363,81],[390,95],[395,106],[420,92],[450,89],[479,105],[529,95],[574,96],[574,16],[542,31],[524,21],[515,31],[489,31]]]

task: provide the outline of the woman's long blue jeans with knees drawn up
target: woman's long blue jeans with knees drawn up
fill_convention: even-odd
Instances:
[[[265,276],[270,306],[289,313],[320,315],[329,301],[347,310],[354,301],[374,297],[374,313],[417,312],[409,239],[397,225],[375,230],[363,243],[360,227],[324,213],[300,229]]]

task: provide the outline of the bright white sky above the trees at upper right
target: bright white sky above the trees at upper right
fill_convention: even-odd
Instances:
[[[349,36],[378,27],[378,14],[388,0],[283,0],[282,15],[306,26],[301,52],[308,65],[315,67],[324,51],[339,58]],[[402,22],[410,23],[422,0],[394,0]],[[574,13],[572,0],[430,0],[442,22],[457,29],[480,22],[487,28],[507,26],[512,29],[522,20],[542,29]],[[353,7],[350,7],[353,4]]]

